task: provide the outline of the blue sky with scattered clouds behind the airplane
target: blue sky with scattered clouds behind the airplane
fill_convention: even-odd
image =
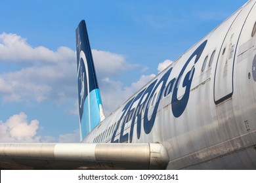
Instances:
[[[246,0],[0,0],[0,142],[79,142],[75,29],[105,115]]]

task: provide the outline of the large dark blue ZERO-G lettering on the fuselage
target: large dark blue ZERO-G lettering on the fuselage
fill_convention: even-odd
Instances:
[[[136,97],[133,97],[128,103],[123,107],[122,114],[120,119],[117,122],[116,129],[114,130],[114,134],[112,135],[111,142],[132,142],[133,141],[133,132],[135,123],[137,122],[137,139],[140,139],[140,133],[141,133],[141,122],[143,120],[143,127],[144,127],[144,133],[149,134],[152,131],[152,128],[154,127],[154,123],[156,120],[156,114],[158,112],[158,107],[160,105],[161,96],[166,97],[169,95],[173,90],[173,95],[171,97],[171,108],[173,112],[173,116],[176,118],[179,118],[181,114],[184,112],[186,105],[188,104],[188,99],[190,96],[190,88],[192,84],[192,80],[195,73],[195,67],[192,67],[188,73],[184,74],[186,71],[186,68],[188,67],[188,64],[194,57],[196,57],[194,64],[197,63],[198,59],[200,59],[200,56],[202,55],[202,52],[207,44],[207,41],[204,41],[198,48],[193,52],[193,54],[190,56],[190,58],[186,61],[184,66],[181,69],[181,72],[179,73],[179,76],[176,78],[173,78],[168,84],[167,80],[169,79],[169,76],[171,75],[171,71],[173,67],[171,67],[162,77],[160,80],[156,79],[154,82],[148,86],[148,88],[144,88]],[[182,81],[182,87],[186,88],[184,95],[182,95],[181,99],[178,99],[178,89],[179,89],[179,83],[181,82],[181,78],[184,75],[184,80]],[[167,84],[167,85],[166,85]],[[166,86],[166,87],[165,87]],[[160,91],[158,93],[158,97],[156,99],[156,103],[154,102],[156,96],[156,91],[160,88]],[[152,101],[154,100],[154,101]],[[134,106],[134,104],[137,102],[137,106]],[[152,114],[149,115],[149,108],[150,103],[154,104],[154,109],[152,111]],[[143,113],[144,110],[144,114]],[[143,116],[143,119],[142,119]],[[125,125],[128,124],[128,122],[131,121],[131,127],[129,133],[125,133]],[[119,135],[119,139],[116,139],[117,136],[117,130],[119,129],[119,126],[121,124],[121,132]]]

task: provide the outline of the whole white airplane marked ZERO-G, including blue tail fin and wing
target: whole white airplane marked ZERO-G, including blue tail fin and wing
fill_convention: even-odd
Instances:
[[[256,169],[256,0],[104,116],[76,29],[81,143],[1,143],[1,169]]]

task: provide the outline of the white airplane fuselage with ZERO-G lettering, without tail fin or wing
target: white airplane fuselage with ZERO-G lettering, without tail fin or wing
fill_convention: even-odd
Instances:
[[[160,142],[167,169],[256,169],[255,22],[249,1],[83,142]]]

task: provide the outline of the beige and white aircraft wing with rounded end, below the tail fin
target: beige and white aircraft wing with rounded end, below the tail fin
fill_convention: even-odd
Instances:
[[[165,169],[164,146],[149,144],[0,144],[1,169]]]

